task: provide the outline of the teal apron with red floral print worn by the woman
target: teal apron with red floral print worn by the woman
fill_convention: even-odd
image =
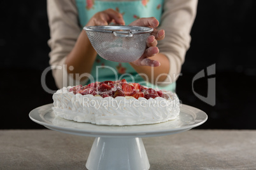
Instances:
[[[142,0],[142,1],[94,1],[94,0],[76,0],[76,8],[81,29],[89,22],[90,18],[99,11],[104,11],[109,8],[122,13],[125,25],[129,25],[138,18],[154,16],[159,20],[162,15],[162,6],[164,0]],[[118,63],[104,60],[99,55],[92,67],[91,72],[94,81],[116,81],[117,79],[126,79],[127,82],[139,82],[145,86],[156,88],[153,84],[145,82],[144,79],[132,68],[129,63]],[[89,84],[87,82],[87,84]],[[160,87],[174,91],[176,84]]]

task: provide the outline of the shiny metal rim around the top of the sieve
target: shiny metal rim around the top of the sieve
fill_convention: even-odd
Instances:
[[[131,26],[131,25],[104,25],[104,26],[87,26],[83,27],[86,31],[94,31],[94,32],[106,32],[113,33],[117,32],[120,34],[131,32],[132,34],[146,34],[151,33],[153,28],[150,27],[141,27],[141,26]],[[123,30],[123,31],[118,31]],[[124,31],[127,30],[127,31]]]

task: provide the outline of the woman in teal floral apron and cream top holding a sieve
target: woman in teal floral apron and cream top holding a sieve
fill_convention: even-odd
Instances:
[[[151,82],[147,86],[173,91],[189,48],[196,6],[197,0],[48,0],[50,65],[61,66],[52,70],[57,86],[89,84],[89,75],[94,81],[114,80],[114,69],[127,81],[144,78]],[[139,60],[118,63],[97,56],[82,28],[112,22],[154,28]],[[122,76],[127,74],[132,77]]]

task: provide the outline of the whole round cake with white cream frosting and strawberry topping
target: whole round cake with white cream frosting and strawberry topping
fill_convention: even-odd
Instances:
[[[171,91],[122,81],[68,86],[53,94],[53,112],[76,122],[99,125],[139,125],[171,121],[180,113],[180,101]]]

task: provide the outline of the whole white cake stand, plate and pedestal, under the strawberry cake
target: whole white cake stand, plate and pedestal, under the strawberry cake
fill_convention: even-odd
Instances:
[[[181,105],[179,117],[160,124],[139,126],[99,126],[57,117],[52,104],[29,113],[32,121],[62,133],[94,136],[86,167],[89,170],[149,169],[150,164],[141,138],[180,133],[203,124],[207,115],[194,107]]]

